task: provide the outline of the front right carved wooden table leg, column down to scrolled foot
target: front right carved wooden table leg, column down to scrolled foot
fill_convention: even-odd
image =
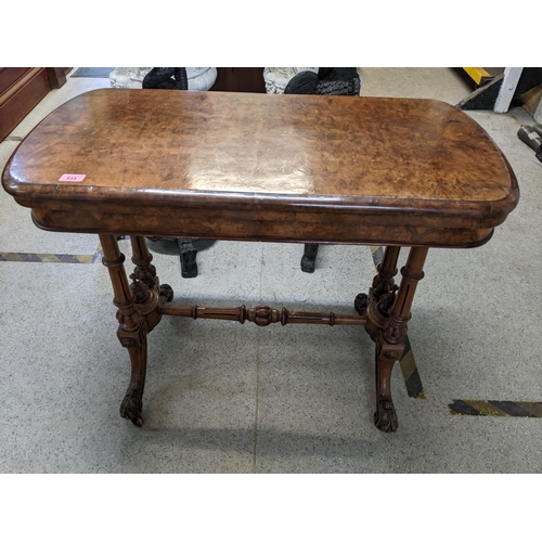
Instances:
[[[385,433],[395,431],[398,427],[397,414],[391,399],[391,370],[404,349],[412,301],[417,283],[424,278],[423,268],[427,250],[425,247],[411,248],[406,264],[401,269],[401,285],[395,295],[389,315],[383,327],[378,327],[376,331],[376,412],[374,423],[378,429]],[[378,311],[382,313],[382,298],[379,305]]]

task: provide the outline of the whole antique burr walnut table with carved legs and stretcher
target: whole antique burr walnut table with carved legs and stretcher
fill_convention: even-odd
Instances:
[[[391,369],[428,248],[482,245],[518,199],[503,154],[442,102],[167,90],[102,89],[70,100],[22,142],[2,182],[39,228],[100,235],[132,365],[120,412],[137,425],[146,336],[170,314],[364,326],[376,347],[375,424],[395,430]],[[131,282],[116,234],[131,238]],[[151,263],[145,236],[154,235],[386,250],[356,314],[182,307],[169,305],[171,288]],[[403,246],[410,254],[397,286]]]

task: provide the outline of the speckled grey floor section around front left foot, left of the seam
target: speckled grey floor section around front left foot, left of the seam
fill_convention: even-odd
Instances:
[[[251,470],[250,334],[241,340],[230,322],[157,327],[140,430],[118,414],[129,359],[105,268],[2,262],[2,278],[13,295],[0,320],[1,472]]]

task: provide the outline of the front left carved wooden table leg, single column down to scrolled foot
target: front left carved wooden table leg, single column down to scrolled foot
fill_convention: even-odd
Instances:
[[[125,271],[125,256],[120,254],[114,235],[100,235],[103,248],[103,264],[107,268],[113,284],[114,299],[119,322],[117,336],[128,349],[131,362],[131,377],[120,415],[139,427],[143,425],[141,411],[146,373],[146,318],[142,315],[137,297],[128,283]]]

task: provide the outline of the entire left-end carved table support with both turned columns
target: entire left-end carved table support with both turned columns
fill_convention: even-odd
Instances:
[[[136,263],[134,273],[130,275],[133,280],[131,285],[126,276],[125,256],[120,254],[117,240],[113,235],[100,235],[104,253],[103,263],[109,272],[114,291],[113,302],[118,309],[117,320],[120,325],[117,336],[120,344],[128,349],[131,362],[130,384],[120,405],[120,415],[141,427],[147,357],[146,335],[159,322],[159,306],[170,300],[172,291],[169,286],[164,286],[160,292],[145,238],[130,238],[133,248],[132,261]]]

